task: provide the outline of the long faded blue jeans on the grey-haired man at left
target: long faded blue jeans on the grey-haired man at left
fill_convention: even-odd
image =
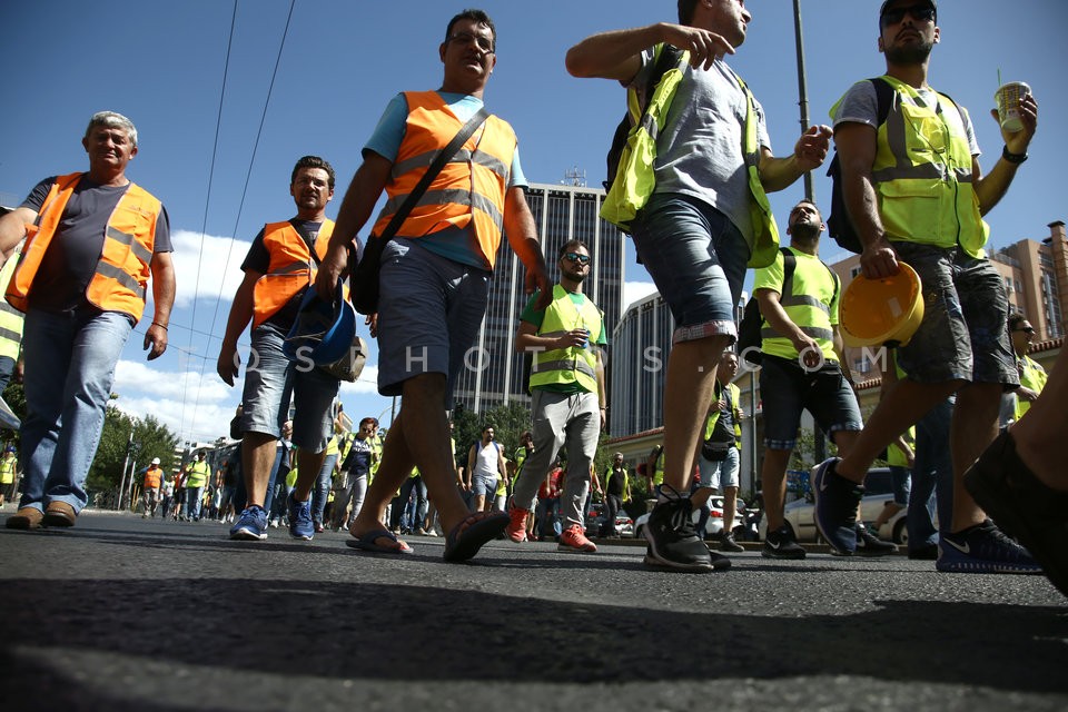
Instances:
[[[86,506],[86,477],[100,444],[115,365],[132,328],[117,312],[31,308],[27,314],[20,507],[63,502],[80,512]]]

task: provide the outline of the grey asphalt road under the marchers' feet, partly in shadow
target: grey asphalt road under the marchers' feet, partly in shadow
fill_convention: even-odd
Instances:
[[[0,530],[0,710],[1068,709],[1041,576],[752,551],[680,575],[503,541],[457,565],[439,538],[393,558],[226,530]]]

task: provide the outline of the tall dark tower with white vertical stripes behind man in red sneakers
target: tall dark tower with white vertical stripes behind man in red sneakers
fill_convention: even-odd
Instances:
[[[590,246],[593,266],[583,290],[604,312],[605,332],[611,335],[623,309],[625,236],[599,217],[602,200],[604,190],[576,185],[531,184],[526,194],[550,279],[557,277],[556,251],[561,245],[577,238]],[[523,278],[523,264],[508,248],[507,240],[502,240],[486,316],[457,377],[457,405],[482,413],[506,403],[530,402],[530,359],[515,352],[520,314],[528,298]]]

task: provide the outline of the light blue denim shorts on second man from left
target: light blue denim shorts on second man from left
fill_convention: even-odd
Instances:
[[[283,340],[283,335],[269,325],[253,330],[238,427],[243,433],[278,437],[281,424],[289,419],[291,400],[293,444],[320,453],[334,436],[330,405],[337,397],[338,380],[318,368],[286,358]]]

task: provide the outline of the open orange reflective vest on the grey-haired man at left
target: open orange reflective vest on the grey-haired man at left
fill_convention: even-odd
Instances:
[[[59,176],[44,198],[36,226],[27,226],[22,258],[8,285],[8,304],[26,312],[44,251],[48,249],[67,201],[85,174]],[[86,288],[89,304],[105,312],[122,312],[140,320],[145,312],[149,263],[156,244],[156,220],[162,205],[150,192],[130,184],[108,218],[97,268]]]

